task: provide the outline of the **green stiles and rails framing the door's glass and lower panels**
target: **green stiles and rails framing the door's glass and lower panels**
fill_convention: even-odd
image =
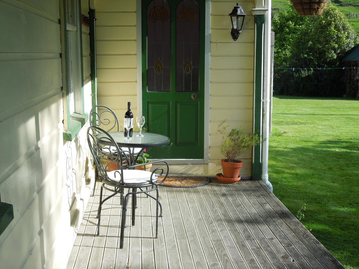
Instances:
[[[171,89],[167,92],[148,92],[147,91],[147,7],[152,0],[142,0],[141,2],[141,36],[142,36],[142,115],[148,118],[148,108],[147,103],[148,100],[156,100],[155,102],[170,102],[171,106],[169,110],[171,113],[169,114],[169,137],[171,142],[173,142],[172,147],[162,147],[156,148],[152,151],[151,156],[163,158],[163,159],[186,159],[188,156],[188,148],[186,146],[178,146],[176,143],[177,137],[177,126],[176,126],[176,104],[178,101],[186,102],[186,100],[190,100],[190,96],[192,93],[190,92],[181,92],[176,91],[176,8],[182,0],[172,0],[167,1],[171,9],[170,20],[171,20]],[[200,13],[200,41],[199,41],[199,92],[193,92],[198,94],[197,97],[198,106],[199,106],[199,115],[197,117],[197,123],[199,125],[198,134],[197,134],[197,145],[198,148],[195,150],[191,148],[191,157],[193,159],[204,159],[204,149],[205,149],[205,133],[204,133],[204,114],[205,114],[205,95],[208,89],[205,88],[205,0],[197,0],[197,4],[199,5]],[[138,55],[137,55],[138,56]],[[149,132],[151,132],[150,127],[147,125],[149,122],[147,121],[146,127]],[[188,147],[191,147],[188,145]],[[156,156],[157,155],[157,156]],[[154,157],[153,156],[153,157]],[[183,156],[183,157],[179,157]]]

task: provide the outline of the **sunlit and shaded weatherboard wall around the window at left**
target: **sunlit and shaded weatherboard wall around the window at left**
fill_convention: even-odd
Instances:
[[[88,123],[63,140],[59,8],[59,0],[0,0],[0,194],[14,207],[1,268],[64,268],[93,184]],[[88,29],[83,49],[88,113]]]

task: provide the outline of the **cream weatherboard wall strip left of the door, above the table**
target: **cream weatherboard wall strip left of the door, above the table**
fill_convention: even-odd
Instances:
[[[96,60],[98,104],[122,118],[131,102],[137,115],[136,1],[96,2]]]

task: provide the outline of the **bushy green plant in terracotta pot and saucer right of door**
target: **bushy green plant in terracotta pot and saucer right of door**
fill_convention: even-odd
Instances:
[[[256,133],[243,133],[243,128],[241,127],[232,129],[227,138],[224,138],[228,127],[225,125],[226,121],[221,122],[217,130],[221,140],[220,150],[224,155],[224,159],[221,160],[223,173],[218,173],[216,178],[222,183],[235,183],[241,179],[239,172],[243,165],[243,162],[237,159],[238,156],[253,146],[260,144],[261,138]]]

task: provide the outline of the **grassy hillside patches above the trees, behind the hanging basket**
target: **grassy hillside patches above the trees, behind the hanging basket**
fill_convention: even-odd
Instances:
[[[289,0],[272,0],[272,12],[277,15],[281,9],[287,7]],[[359,12],[359,0],[332,0],[332,3],[344,14]],[[359,34],[359,18],[348,19],[349,23]]]

